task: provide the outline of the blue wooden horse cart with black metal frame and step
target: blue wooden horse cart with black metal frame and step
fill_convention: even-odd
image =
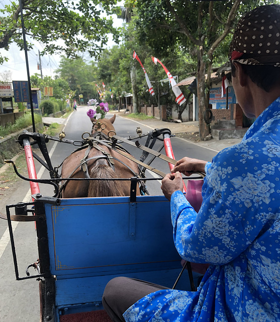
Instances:
[[[169,202],[164,196],[136,196],[137,179],[130,180],[128,197],[60,199],[37,192],[31,203],[7,205],[16,278],[38,279],[41,321],[110,320],[102,295],[117,276],[173,287],[182,267]],[[27,269],[29,276],[19,276],[13,220],[36,222],[36,275]],[[190,281],[183,272],[176,288],[190,290],[200,277],[194,273]]]

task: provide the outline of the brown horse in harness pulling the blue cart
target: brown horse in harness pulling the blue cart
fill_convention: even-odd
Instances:
[[[114,115],[111,119],[99,120],[101,122],[101,127],[103,128],[102,132],[105,135],[108,135],[110,131],[115,131],[113,126],[115,119],[116,115]],[[91,135],[93,135],[96,132],[95,125],[97,123],[93,122],[94,119],[91,120],[94,124],[91,132]],[[85,169],[85,165],[82,166],[82,159],[88,159],[86,161],[87,169]],[[120,162],[116,159],[119,159]],[[112,167],[112,165],[110,166],[110,160],[111,163],[114,163],[114,167]],[[125,165],[127,165],[133,171],[131,171]],[[138,166],[135,162],[119,154],[115,149],[108,148],[103,144],[98,144],[96,147],[94,144],[94,146],[91,148],[89,146],[85,146],[84,148],[77,149],[70,154],[62,164],[61,178],[85,178],[86,175],[83,170],[89,174],[90,178],[131,178],[134,177],[135,174],[139,174]],[[62,198],[129,195],[130,181],[67,181],[63,183],[62,189]],[[137,195],[140,195],[139,187],[137,187]]]

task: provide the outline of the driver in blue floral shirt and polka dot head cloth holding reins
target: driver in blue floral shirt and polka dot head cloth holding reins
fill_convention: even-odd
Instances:
[[[244,114],[256,120],[212,163],[185,157],[162,180],[177,251],[210,264],[198,291],[116,278],[103,300],[115,321],[280,321],[279,41],[279,5],[239,21],[229,51],[232,83]],[[178,173],[192,171],[206,173],[198,213]],[[118,296],[123,304],[116,308]]]

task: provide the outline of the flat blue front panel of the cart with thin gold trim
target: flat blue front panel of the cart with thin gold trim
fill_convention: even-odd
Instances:
[[[57,279],[178,267],[164,197],[63,199],[46,216]]]

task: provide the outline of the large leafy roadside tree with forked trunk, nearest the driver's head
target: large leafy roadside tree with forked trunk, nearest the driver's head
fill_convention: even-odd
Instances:
[[[271,1],[266,1],[266,3]],[[161,56],[180,48],[197,58],[197,92],[199,100],[200,135],[210,134],[207,93],[216,50],[234,28],[242,13],[263,1],[200,1],[143,0],[138,1],[142,41],[147,41]],[[241,4],[241,5],[240,5]],[[224,57],[226,56],[225,53]],[[160,57],[161,57],[160,56]],[[208,81],[205,83],[207,70]]]

